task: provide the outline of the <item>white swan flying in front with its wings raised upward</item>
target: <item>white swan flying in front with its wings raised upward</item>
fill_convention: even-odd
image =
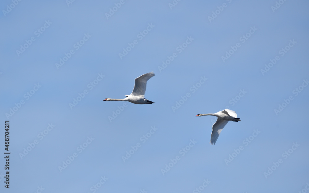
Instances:
[[[154,102],[145,99],[145,92],[146,92],[146,84],[147,81],[155,76],[155,73],[149,72],[146,74],[143,74],[140,77],[135,78],[135,84],[133,91],[130,95],[125,95],[127,98],[125,99],[110,99],[106,98],[104,101],[111,101],[111,100],[116,100],[116,101],[129,101],[134,104],[152,104]]]

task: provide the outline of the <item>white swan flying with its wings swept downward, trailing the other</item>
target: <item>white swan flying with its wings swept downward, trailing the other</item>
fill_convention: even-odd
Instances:
[[[223,111],[219,111],[216,113],[208,113],[208,114],[197,114],[197,116],[204,116],[204,115],[213,115],[218,117],[217,121],[214,123],[212,127],[210,142],[212,145],[216,143],[222,129],[229,121],[240,121],[239,118],[237,118],[237,114],[235,111],[232,111],[230,109],[225,109]]]

